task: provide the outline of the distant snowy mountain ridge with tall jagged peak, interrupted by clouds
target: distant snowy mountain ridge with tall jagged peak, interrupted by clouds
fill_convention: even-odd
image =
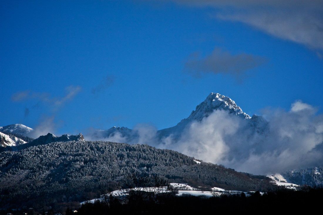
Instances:
[[[176,126],[158,130],[156,137],[160,141],[172,135],[172,139],[176,140],[180,138],[183,130],[191,125],[193,121],[201,121],[213,113],[214,110],[224,110],[232,115],[248,120],[248,127],[257,133],[263,133],[268,124],[261,116],[253,115],[250,117],[231,98],[219,93],[210,93],[202,103],[196,106],[196,109],[192,111],[188,118],[182,119]],[[88,135],[91,139],[109,138],[110,141],[114,141],[113,138],[118,137],[122,139],[122,142],[136,143],[135,139],[139,137],[139,132],[138,130],[132,130],[126,127],[112,127],[108,130],[97,130]]]

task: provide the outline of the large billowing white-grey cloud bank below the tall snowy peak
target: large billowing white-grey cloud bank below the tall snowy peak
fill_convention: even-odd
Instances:
[[[297,101],[268,114],[262,132],[225,111],[190,125],[170,148],[207,162],[254,174],[323,165],[323,115]],[[259,129],[258,129],[259,131]]]

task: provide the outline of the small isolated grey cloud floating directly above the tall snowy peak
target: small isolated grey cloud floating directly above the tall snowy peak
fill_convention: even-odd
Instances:
[[[266,63],[266,58],[251,54],[232,55],[220,48],[215,48],[211,55],[202,57],[194,53],[185,62],[184,70],[201,77],[201,73],[231,75],[237,80],[246,77],[246,71]]]

